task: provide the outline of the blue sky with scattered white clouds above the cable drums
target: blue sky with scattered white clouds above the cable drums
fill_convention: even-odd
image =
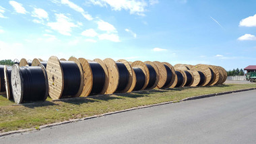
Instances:
[[[1,0],[0,59],[256,65],[256,1]]]

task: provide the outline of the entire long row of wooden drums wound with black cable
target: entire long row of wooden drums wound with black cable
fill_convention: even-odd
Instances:
[[[13,98],[18,104],[46,100],[48,95],[56,100],[143,89],[218,85],[227,77],[226,71],[218,66],[178,64],[172,67],[159,61],[131,63],[123,59],[90,61],[75,57],[66,61],[53,56],[48,61],[34,59],[31,63],[22,59],[18,64],[3,69],[6,71],[3,89],[7,91],[7,98]]]

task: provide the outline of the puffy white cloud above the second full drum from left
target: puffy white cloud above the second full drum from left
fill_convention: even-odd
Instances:
[[[53,30],[56,30],[60,34],[71,36],[71,28],[76,28],[78,26],[71,22],[71,19],[63,13],[56,13],[55,16],[57,22],[49,22],[47,26],[51,27]]]

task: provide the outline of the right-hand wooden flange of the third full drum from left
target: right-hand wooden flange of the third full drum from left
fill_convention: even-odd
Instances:
[[[108,68],[106,67],[106,64],[101,59],[94,59],[92,62],[97,62],[100,64],[102,69],[104,70],[104,86],[102,88],[102,91],[99,94],[106,94],[106,90],[108,89],[108,83],[109,83],[109,74],[108,74]],[[97,85],[95,85],[97,86]]]

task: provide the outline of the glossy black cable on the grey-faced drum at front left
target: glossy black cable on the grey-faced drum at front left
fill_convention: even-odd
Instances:
[[[46,100],[47,78],[41,67],[20,67],[23,77],[23,102]]]

